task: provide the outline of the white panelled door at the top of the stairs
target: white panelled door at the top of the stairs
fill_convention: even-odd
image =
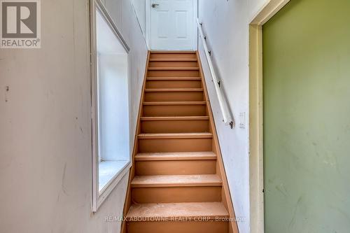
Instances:
[[[194,49],[194,0],[152,0],[151,49]]]

